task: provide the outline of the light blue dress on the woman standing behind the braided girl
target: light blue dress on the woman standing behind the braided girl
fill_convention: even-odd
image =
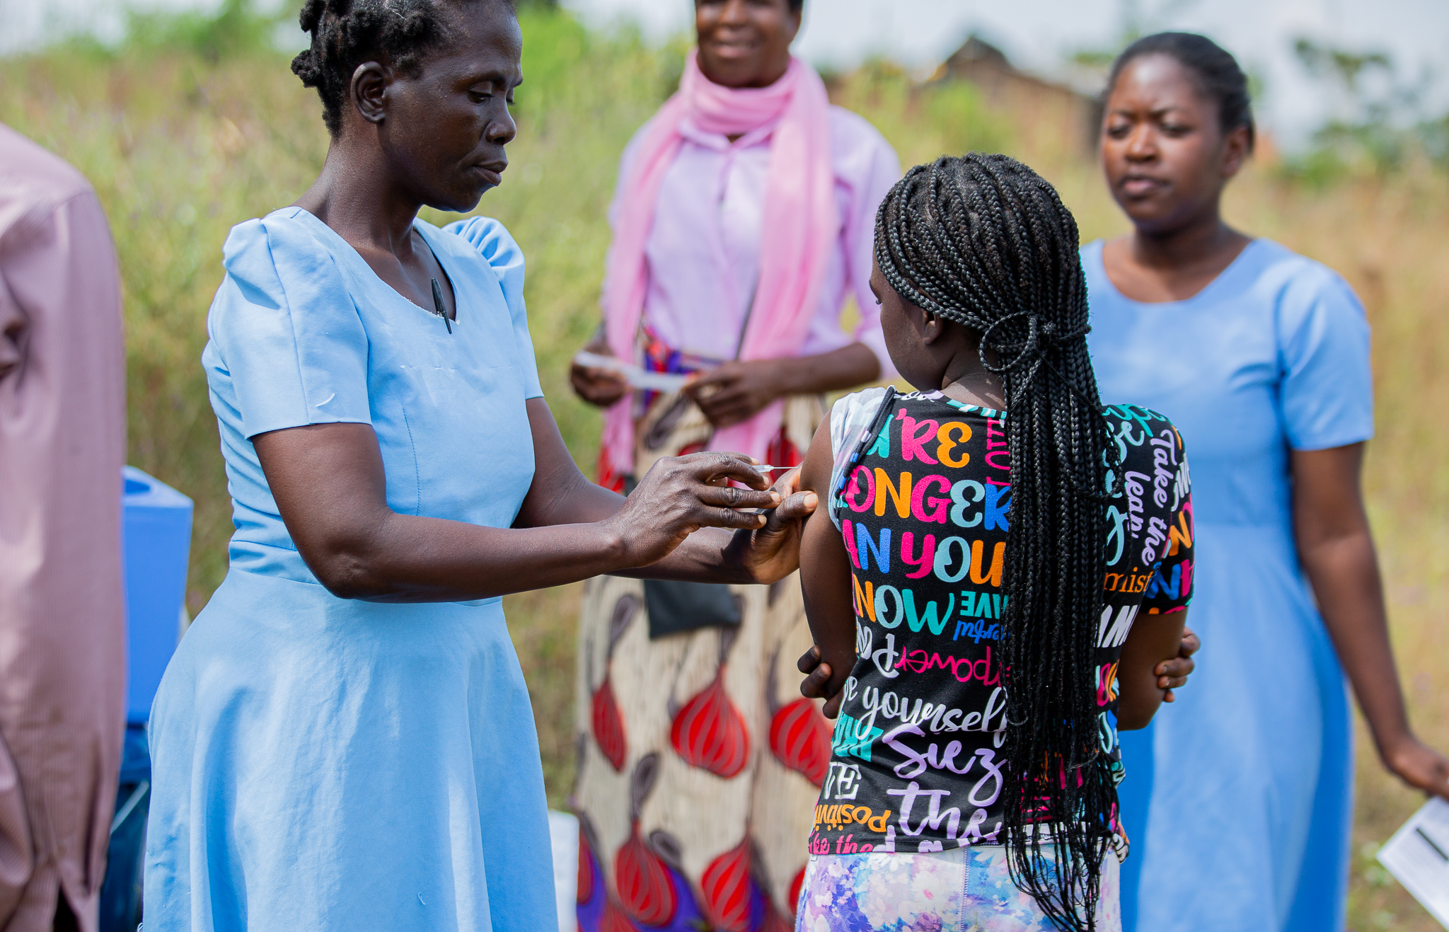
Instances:
[[[1103,397],[1193,451],[1197,671],[1122,735],[1129,932],[1345,925],[1353,751],[1343,671],[1298,564],[1290,449],[1374,432],[1369,330],[1332,270],[1268,239],[1185,301],[1140,303],[1082,248]]]

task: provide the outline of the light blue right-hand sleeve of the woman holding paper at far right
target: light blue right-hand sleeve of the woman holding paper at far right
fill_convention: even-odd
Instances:
[[[1293,449],[1329,449],[1374,436],[1368,317],[1336,272],[1313,262],[1278,306],[1282,416]]]

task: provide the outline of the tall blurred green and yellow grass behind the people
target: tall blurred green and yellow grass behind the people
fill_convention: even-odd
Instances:
[[[271,48],[275,22],[249,10],[229,0],[219,16],[230,20],[154,17],[138,20],[119,49],[71,42],[0,61],[0,120],[84,171],[110,216],[125,280],[130,462],[196,499],[193,613],[226,571],[230,533],[199,362],[222,242],[232,225],[291,203],[326,154],[316,97]],[[597,325],[619,154],[678,80],[682,49],[585,32],[548,4],[527,4],[520,16],[519,139],[503,187],[480,210],[500,217],[527,254],[543,387],[588,471],[600,419],[568,391],[567,361]],[[1124,229],[1095,165],[1049,107],[1004,112],[969,86],[917,87],[888,62],[832,78],[832,94],[871,119],[906,165],[942,152],[1006,151],[1058,187],[1084,239]],[[1449,406],[1449,183],[1416,162],[1311,184],[1278,164],[1256,164],[1230,188],[1227,216],[1337,268],[1368,306],[1379,413],[1371,506],[1413,715],[1426,738],[1446,746],[1449,696],[1436,658],[1449,655],[1449,629],[1436,606],[1449,596],[1449,531],[1437,520],[1449,506],[1449,470],[1440,465],[1449,439],[1439,425]],[[509,600],[555,802],[572,775],[577,602],[577,587]],[[1271,696],[1271,684],[1264,691]],[[1353,928],[1432,929],[1369,857],[1417,800],[1362,746]]]

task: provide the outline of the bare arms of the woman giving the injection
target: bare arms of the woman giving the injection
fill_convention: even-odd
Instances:
[[[762,478],[726,454],[661,461],[625,500],[582,478],[542,399],[527,404],[535,475],[513,528],[394,512],[368,425],[290,428],[252,442],[297,551],[346,599],[465,602],[635,570],[701,528],[764,529],[753,509],[781,502],[771,490],[730,486]],[[684,558],[703,564],[707,552],[694,545]]]

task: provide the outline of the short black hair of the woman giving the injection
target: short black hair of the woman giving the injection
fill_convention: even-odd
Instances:
[[[423,54],[448,39],[443,6],[468,1],[307,0],[298,22],[312,33],[312,46],[291,59],[291,71],[303,86],[317,88],[327,132],[342,132],[342,104],[359,64],[377,57],[417,77]],[[513,9],[511,0],[498,1]]]

